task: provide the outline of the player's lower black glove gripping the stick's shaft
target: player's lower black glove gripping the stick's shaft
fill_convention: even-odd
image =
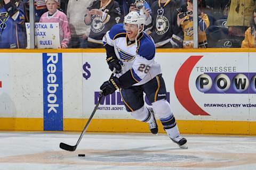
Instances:
[[[110,94],[113,94],[117,89],[119,89],[119,80],[117,77],[112,77],[108,81],[103,82],[103,84],[100,87],[100,90],[103,91],[104,96],[108,96]]]

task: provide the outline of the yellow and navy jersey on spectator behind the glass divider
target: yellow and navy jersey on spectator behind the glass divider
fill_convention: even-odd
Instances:
[[[205,29],[210,25],[209,18],[207,14],[203,14],[198,17],[198,45],[199,47],[206,47],[207,39],[205,34]],[[183,30],[183,48],[193,48],[193,18],[185,16],[185,20],[181,22],[181,28]]]

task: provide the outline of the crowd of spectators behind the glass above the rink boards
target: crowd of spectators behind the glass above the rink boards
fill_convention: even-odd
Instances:
[[[198,0],[198,47],[256,47],[255,1]],[[27,48],[29,1],[0,7],[0,48]],[[59,22],[61,48],[103,48],[105,33],[141,8],[157,48],[193,48],[193,0],[35,0],[34,13],[35,22]]]

